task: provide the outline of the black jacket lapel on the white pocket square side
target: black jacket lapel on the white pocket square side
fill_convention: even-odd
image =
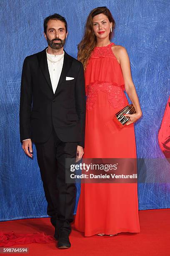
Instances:
[[[72,64],[72,59],[64,51],[64,61],[63,61],[62,71],[61,71],[60,79],[58,81],[57,89],[55,90],[55,95],[56,95],[57,91],[60,89],[62,82],[65,81],[65,77],[71,67],[71,64]]]

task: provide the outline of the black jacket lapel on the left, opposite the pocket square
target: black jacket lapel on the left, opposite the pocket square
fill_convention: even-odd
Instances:
[[[46,48],[37,54],[37,58],[40,64],[40,68],[42,70],[42,74],[44,75],[47,84],[49,85],[50,89],[52,90],[52,84],[50,79],[50,73],[48,70],[48,64],[47,64],[47,54],[46,54]],[[53,92],[53,90],[52,90]]]

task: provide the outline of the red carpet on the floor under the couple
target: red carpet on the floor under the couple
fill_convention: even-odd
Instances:
[[[32,243],[22,246],[28,247],[31,256],[169,256],[170,255],[170,209],[143,210],[139,212],[139,234],[121,233],[118,236],[84,237],[72,226],[70,249],[58,249],[56,243]],[[0,231],[15,233],[45,232],[53,235],[54,228],[49,218],[13,220],[0,223]],[[8,254],[12,255],[12,254]],[[15,253],[13,255],[21,255]]]

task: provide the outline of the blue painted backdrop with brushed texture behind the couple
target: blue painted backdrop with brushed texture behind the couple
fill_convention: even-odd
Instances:
[[[47,45],[43,20],[53,13],[66,18],[69,36],[65,50],[76,57],[87,15],[103,5],[110,8],[116,21],[112,41],[124,46],[130,56],[143,110],[142,120],[135,125],[138,157],[163,157],[158,131],[170,95],[170,0],[74,0],[74,4],[71,0],[1,0],[0,220],[46,216],[36,157],[29,159],[20,144],[23,60]],[[35,146],[33,150],[35,155]],[[149,170],[151,175],[153,171]],[[169,194],[170,184],[139,184],[140,210],[170,207]]]

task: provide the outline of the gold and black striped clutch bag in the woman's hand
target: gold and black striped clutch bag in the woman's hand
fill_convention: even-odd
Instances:
[[[124,114],[135,114],[136,110],[133,104],[130,104],[117,112],[115,116],[113,117],[113,120],[122,128],[129,120],[130,118],[128,116],[124,116]]]

